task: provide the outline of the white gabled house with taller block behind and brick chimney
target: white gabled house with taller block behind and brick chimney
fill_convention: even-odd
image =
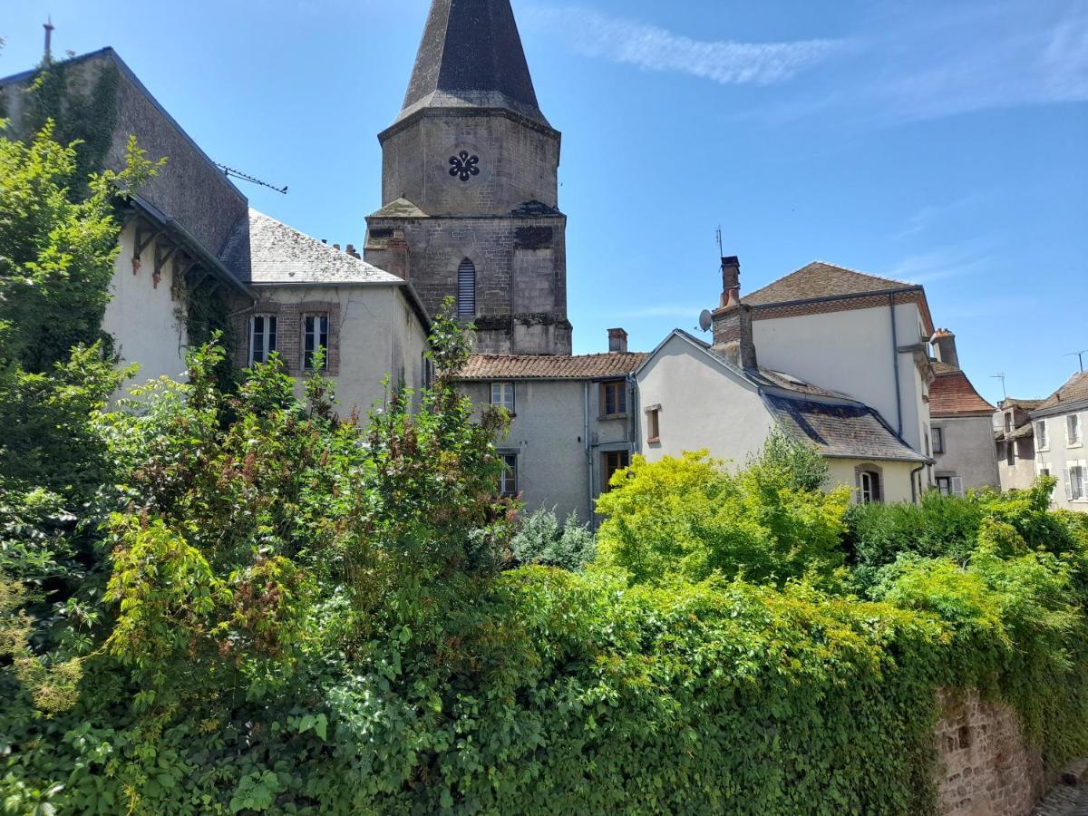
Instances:
[[[829,487],[917,500],[932,465],[922,287],[813,263],[741,298],[738,259],[721,270],[713,343],[676,330],[635,372],[645,456],[742,465],[779,428],[827,459]]]

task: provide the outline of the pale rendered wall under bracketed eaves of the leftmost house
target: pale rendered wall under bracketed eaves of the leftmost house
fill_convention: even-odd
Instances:
[[[166,262],[156,284],[152,242],[133,273],[135,233],[131,223],[119,238],[121,252],[113,262],[112,299],[106,307],[102,330],[113,336],[123,366],[139,363],[136,382],[163,375],[182,380],[188,336],[182,317],[184,304],[173,295],[174,263]]]

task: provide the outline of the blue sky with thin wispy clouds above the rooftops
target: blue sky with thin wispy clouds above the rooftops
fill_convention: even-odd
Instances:
[[[255,207],[361,244],[428,0],[5,0],[0,73],[112,45]],[[975,385],[1088,348],[1088,0],[514,0],[562,131],[576,351],[811,260],[925,284]]]

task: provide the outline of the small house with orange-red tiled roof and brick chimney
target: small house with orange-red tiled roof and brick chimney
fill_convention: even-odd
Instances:
[[[948,496],[1000,486],[993,444],[994,408],[960,368],[955,335],[940,329],[930,339],[936,359],[929,386],[934,481]]]

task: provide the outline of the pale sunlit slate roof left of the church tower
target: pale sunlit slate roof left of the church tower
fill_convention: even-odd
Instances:
[[[396,275],[251,208],[227,238],[221,259],[238,280],[250,285],[404,284]]]

